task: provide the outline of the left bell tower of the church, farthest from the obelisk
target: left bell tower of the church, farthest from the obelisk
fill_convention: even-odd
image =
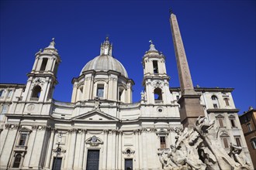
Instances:
[[[47,102],[52,99],[57,84],[57,68],[61,58],[52,39],[50,45],[35,54],[36,59],[26,83],[23,101]]]

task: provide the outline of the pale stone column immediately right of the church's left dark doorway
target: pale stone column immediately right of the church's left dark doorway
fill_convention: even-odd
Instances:
[[[71,130],[71,140],[69,143],[69,154],[67,157],[67,169],[73,168],[74,163],[74,146],[76,142],[76,136],[77,136],[77,129]]]

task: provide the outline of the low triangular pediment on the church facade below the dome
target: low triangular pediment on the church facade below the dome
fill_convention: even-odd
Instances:
[[[73,121],[119,121],[118,118],[106,114],[100,110],[92,110],[85,114],[72,118]]]

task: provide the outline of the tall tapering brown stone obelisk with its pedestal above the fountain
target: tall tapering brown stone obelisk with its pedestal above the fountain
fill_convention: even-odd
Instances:
[[[182,97],[178,100],[180,104],[180,116],[184,127],[192,128],[195,119],[199,115],[204,116],[202,105],[200,104],[200,94],[195,93],[189,64],[185,55],[185,49],[182,42],[182,35],[178,28],[176,15],[171,12],[170,16],[171,34],[175,46],[175,57],[178,67],[178,78],[181,86]]]

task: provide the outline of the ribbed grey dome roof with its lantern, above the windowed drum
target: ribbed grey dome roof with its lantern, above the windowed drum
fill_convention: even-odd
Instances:
[[[128,74],[123,64],[112,57],[112,44],[109,43],[108,37],[106,37],[106,40],[101,44],[100,56],[96,56],[94,59],[86,63],[84,68],[81,70],[80,76],[84,71],[88,70],[113,70],[128,78]]]

